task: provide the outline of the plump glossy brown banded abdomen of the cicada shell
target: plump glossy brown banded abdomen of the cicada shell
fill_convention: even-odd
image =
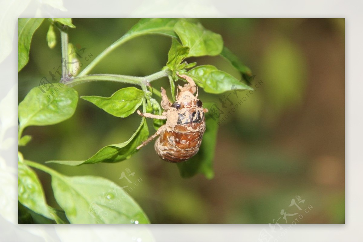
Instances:
[[[183,162],[191,158],[198,152],[205,131],[204,122],[197,126],[194,129],[197,131],[180,131],[185,126],[179,126],[179,130],[174,131],[164,130],[155,142],[156,153],[168,162]]]

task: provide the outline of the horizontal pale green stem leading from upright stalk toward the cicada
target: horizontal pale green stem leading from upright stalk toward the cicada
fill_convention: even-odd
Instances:
[[[87,83],[87,82],[97,82],[97,81],[110,81],[110,82],[121,82],[121,83],[129,83],[136,84],[143,87],[146,83],[150,83],[154,80],[160,79],[164,76],[168,76],[167,70],[162,70],[156,72],[154,74],[148,76],[126,76],[126,75],[114,75],[114,74],[96,74],[96,75],[87,75],[87,76],[77,76],[71,79],[66,85],[73,87],[78,84]]]

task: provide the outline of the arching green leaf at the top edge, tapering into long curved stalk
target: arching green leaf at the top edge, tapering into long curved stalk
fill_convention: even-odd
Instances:
[[[162,34],[176,38],[174,25],[177,21],[176,18],[142,18],[121,39],[143,34]]]

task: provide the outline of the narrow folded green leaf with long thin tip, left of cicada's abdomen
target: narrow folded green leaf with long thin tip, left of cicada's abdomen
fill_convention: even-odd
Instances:
[[[137,150],[142,141],[146,140],[149,135],[145,118],[142,118],[141,124],[131,138],[123,143],[108,145],[99,150],[93,157],[87,160],[70,161],[70,160],[51,160],[49,163],[65,164],[69,166],[79,166],[81,164],[95,164],[100,162],[115,163],[129,159]],[[48,163],[47,162],[47,163]]]

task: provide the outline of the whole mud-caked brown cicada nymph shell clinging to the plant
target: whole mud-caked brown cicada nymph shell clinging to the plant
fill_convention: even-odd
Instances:
[[[194,96],[196,86],[193,79],[187,75],[180,77],[185,78],[188,83],[183,87],[178,86],[180,92],[173,104],[168,100],[165,89],[161,88],[161,106],[166,112],[153,115],[138,110],[138,114],[143,117],[166,119],[166,124],[136,149],[140,149],[159,135],[155,142],[155,151],[160,158],[168,162],[183,162],[198,152],[205,131],[204,113],[208,112],[207,109],[203,109],[198,93]]]

